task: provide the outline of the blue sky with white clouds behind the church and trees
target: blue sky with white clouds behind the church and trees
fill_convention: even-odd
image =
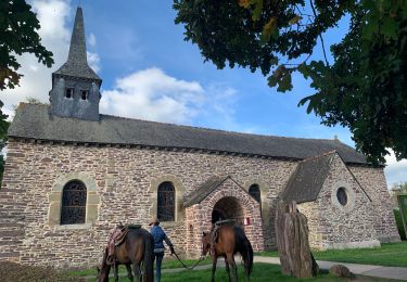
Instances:
[[[348,129],[320,125],[314,114],[297,107],[311,94],[309,81],[294,75],[294,89],[279,93],[259,73],[236,67],[217,69],[204,62],[196,46],[185,41],[176,25],[171,0],[35,0],[43,46],[55,64],[47,68],[25,54],[18,57],[21,86],[0,92],[5,113],[27,98],[49,102],[51,74],[67,59],[75,11],[84,9],[88,62],[103,79],[100,112],[130,118],[174,123],[270,136],[333,139],[355,146]],[[326,46],[347,30],[344,17],[323,35]],[[329,50],[327,50],[329,51]],[[320,44],[311,59],[322,59]],[[329,59],[332,57],[329,55]],[[387,184],[407,181],[407,159],[387,158]]]

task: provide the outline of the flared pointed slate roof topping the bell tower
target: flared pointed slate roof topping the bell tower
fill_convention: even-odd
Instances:
[[[81,77],[88,79],[102,80],[88,65],[86,54],[86,40],[82,9],[76,10],[74,29],[71,38],[69,54],[63,64],[53,75],[65,75],[71,77]]]

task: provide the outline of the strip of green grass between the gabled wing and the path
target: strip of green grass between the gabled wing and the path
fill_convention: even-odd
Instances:
[[[361,265],[407,267],[407,242],[386,243],[376,248],[314,251],[315,259]],[[277,251],[257,255],[278,257]]]

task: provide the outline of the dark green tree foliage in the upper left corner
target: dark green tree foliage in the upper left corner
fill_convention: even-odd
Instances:
[[[36,14],[25,0],[0,1],[0,90],[18,86],[22,74],[16,55],[33,53],[38,62],[51,67],[52,52],[42,44]]]

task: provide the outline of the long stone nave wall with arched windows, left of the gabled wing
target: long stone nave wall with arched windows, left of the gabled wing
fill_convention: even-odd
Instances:
[[[155,216],[154,183],[157,179],[170,179],[175,182],[176,193],[185,191],[181,192],[183,197],[214,175],[229,175],[245,188],[253,184],[251,179],[260,179],[264,207],[272,206],[294,168],[294,162],[239,155],[11,140],[1,190],[10,201],[1,207],[0,216],[7,208],[15,209],[14,221],[16,215],[21,216],[17,221],[22,229],[18,236],[14,236],[21,261],[89,267],[102,257],[110,231],[117,222],[137,222],[147,227]],[[97,220],[71,228],[52,223],[54,198],[50,195],[55,192],[59,179],[80,174],[94,180],[94,198],[99,200],[94,203]],[[176,204],[182,209],[178,196]],[[177,211],[176,221],[162,223],[179,253],[186,252],[185,234],[188,232],[183,211]],[[264,220],[272,222],[272,213],[271,208],[268,214],[263,214]],[[275,245],[275,238],[271,229],[266,231],[265,246],[270,248]],[[5,245],[0,246],[4,254],[10,253]],[[10,255],[17,258],[18,252]]]

